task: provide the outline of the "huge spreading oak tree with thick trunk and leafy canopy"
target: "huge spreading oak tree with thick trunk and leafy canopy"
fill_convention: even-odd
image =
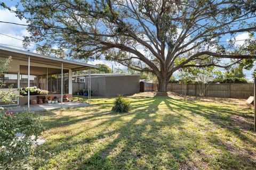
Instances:
[[[255,61],[255,0],[26,0],[22,6],[16,13],[31,33],[25,44],[57,45],[71,57],[105,57],[152,72],[158,91],[184,67]],[[243,32],[251,38],[238,48],[234,37]]]

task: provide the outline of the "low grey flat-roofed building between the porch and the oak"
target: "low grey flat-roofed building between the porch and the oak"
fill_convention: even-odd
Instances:
[[[88,74],[73,75],[73,92],[87,89]],[[78,83],[79,82],[79,83]],[[79,88],[78,88],[79,84]],[[140,75],[131,74],[91,74],[92,96],[132,95],[140,91]]]

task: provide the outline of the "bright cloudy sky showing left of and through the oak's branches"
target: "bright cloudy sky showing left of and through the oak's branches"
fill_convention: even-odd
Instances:
[[[15,5],[19,2],[19,0],[4,0],[1,1],[0,3],[4,2],[7,6],[11,6],[12,8],[15,9]],[[6,10],[4,8],[0,7],[0,21],[7,21],[7,22],[14,22],[14,23],[19,23],[19,24],[26,24],[26,20],[19,20],[19,18],[17,18],[15,16],[14,13],[11,13],[9,10]],[[4,35],[2,35],[4,34]],[[7,35],[7,36],[6,36]],[[0,23],[0,45],[2,46],[6,46],[6,47],[11,47],[11,48],[17,48],[17,49],[24,49],[22,47],[22,36],[28,36],[29,32],[26,30],[26,27],[21,26],[21,25],[13,25],[13,24],[7,24],[7,23]],[[10,36],[10,37],[8,37]],[[11,37],[15,37],[15,38],[11,38]],[[236,35],[236,40],[243,40],[248,38],[249,35],[247,32],[245,33],[239,33]],[[223,37],[225,40],[228,40],[229,37]],[[242,45],[244,43],[244,41],[236,41],[236,45]],[[31,44],[28,49],[24,49],[24,50],[30,50],[31,52],[36,52],[35,51],[36,46]],[[141,49],[143,50],[143,49]],[[106,64],[108,65],[110,68],[114,67],[114,70],[119,68],[122,69],[124,71],[127,70],[127,68],[121,64],[115,63],[115,62],[110,62],[110,61],[106,61],[106,60],[94,60],[94,61],[89,61],[89,64]],[[223,71],[223,69],[221,70]],[[252,70],[248,71],[248,70],[244,70],[244,74],[246,76],[246,78],[250,81],[252,81]],[[174,73],[174,77],[178,78],[177,72]]]

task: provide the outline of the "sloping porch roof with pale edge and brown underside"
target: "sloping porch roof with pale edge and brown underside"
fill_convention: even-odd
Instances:
[[[28,56],[30,56],[30,62],[47,64],[52,66],[60,66],[60,64],[63,63],[63,67],[66,67],[67,69],[71,69],[73,71],[98,68],[98,66],[92,64],[80,63],[71,60],[65,60],[62,58],[26,52],[25,50],[0,46],[0,57],[7,58],[9,56],[12,56],[12,59],[20,61],[28,61]]]

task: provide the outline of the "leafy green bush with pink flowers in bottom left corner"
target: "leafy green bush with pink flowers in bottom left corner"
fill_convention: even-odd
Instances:
[[[33,155],[33,143],[44,130],[39,118],[33,112],[0,112],[0,127],[0,169],[31,168],[28,159]]]

